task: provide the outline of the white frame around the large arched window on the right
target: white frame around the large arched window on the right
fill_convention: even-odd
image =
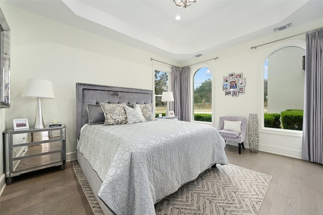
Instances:
[[[261,71],[261,74],[259,75],[260,78],[260,90],[259,90],[259,132],[261,133],[269,133],[269,134],[280,134],[280,135],[286,135],[286,136],[295,136],[295,137],[302,137],[303,131],[297,131],[297,130],[289,130],[289,129],[279,129],[279,128],[267,128],[264,127],[264,75],[263,75],[263,66],[265,61],[274,53],[275,51],[284,48],[284,47],[290,47],[290,46],[296,46],[299,48],[302,48],[305,50],[306,53],[306,42],[305,40],[287,40],[282,41],[280,43],[277,43],[272,46],[272,48],[269,49],[265,53],[265,55],[262,57],[260,64],[259,64],[259,71]]]

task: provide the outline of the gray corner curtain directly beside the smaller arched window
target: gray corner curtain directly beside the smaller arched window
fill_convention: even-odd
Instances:
[[[190,67],[182,68],[181,73],[181,118],[182,121],[191,121],[191,87]]]

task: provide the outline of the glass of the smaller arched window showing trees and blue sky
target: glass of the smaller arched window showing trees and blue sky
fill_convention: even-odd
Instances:
[[[212,122],[212,73],[202,67],[193,75],[193,121]]]

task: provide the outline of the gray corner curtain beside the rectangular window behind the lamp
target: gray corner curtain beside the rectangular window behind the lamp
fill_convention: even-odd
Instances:
[[[181,71],[172,66],[172,91],[174,96],[174,112],[181,120]]]

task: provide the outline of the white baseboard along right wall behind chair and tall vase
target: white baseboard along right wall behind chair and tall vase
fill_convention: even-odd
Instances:
[[[227,145],[233,145],[238,147],[238,143],[227,141]],[[243,142],[245,148],[249,148],[248,142]],[[294,157],[298,159],[302,159],[302,152],[300,150],[277,147],[272,145],[259,144],[259,151],[268,152],[272,154],[279,154],[287,157]]]

